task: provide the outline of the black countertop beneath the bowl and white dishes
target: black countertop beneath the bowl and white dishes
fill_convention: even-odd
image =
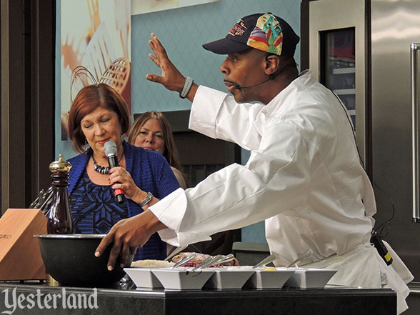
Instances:
[[[7,282],[0,283],[0,314],[395,315],[396,294],[390,289],[338,286],[174,291],[126,284],[96,289]]]

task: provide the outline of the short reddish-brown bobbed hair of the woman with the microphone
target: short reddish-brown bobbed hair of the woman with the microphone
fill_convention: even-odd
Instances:
[[[81,120],[98,108],[116,113],[122,134],[129,130],[129,109],[122,96],[112,86],[104,83],[84,86],[76,95],[69,112],[69,138],[77,153],[86,151],[86,137],[81,131]]]

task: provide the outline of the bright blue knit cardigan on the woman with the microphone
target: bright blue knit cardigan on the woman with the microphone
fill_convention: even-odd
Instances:
[[[162,199],[172,191],[179,188],[179,183],[168,162],[159,152],[145,150],[123,142],[126,171],[129,172],[134,183],[143,191],[150,191],[158,199]],[[86,165],[92,155],[92,149],[69,159],[72,168],[69,177],[69,195],[73,192]],[[131,199],[126,199],[129,217],[143,212],[141,206]],[[86,232],[87,233],[87,232]],[[149,241],[139,249],[134,260],[164,259],[166,256],[166,243],[161,241],[159,234],[155,233]]]

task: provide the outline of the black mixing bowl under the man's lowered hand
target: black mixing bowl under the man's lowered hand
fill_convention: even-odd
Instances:
[[[63,286],[111,286],[126,273],[119,259],[114,270],[107,269],[111,245],[100,257],[95,249],[104,238],[102,234],[44,234],[39,239],[46,273]],[[126,266],[130,266],[130,254]]]

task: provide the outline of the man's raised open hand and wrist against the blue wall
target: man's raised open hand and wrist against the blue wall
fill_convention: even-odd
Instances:
[[[157,74],[147,74],[146,79],[160,83],[170,91],[177,91],[180,93],[184,86],[186,79],[185,76],[183,76],[181,72],[176,69],[176,66],[172,64],[172,61],[169,60],[164,46],[162,46],[156,35],[152,33],[150,37],[151,40],[149,41],[149,46],[151,47],[151,50],[153,50],[154,54],[149,54],[149,57],[157,66],[159,66],[162,74],[160,76]],[[197,84],[193,84],[189,90],[189,93],[186,94],[186,99],[193,101],[198,87],[199,86]]]

